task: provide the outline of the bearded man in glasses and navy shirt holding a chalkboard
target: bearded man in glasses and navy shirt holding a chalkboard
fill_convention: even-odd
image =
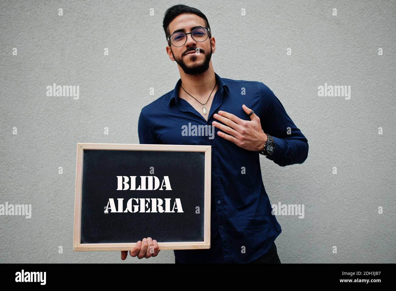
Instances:
[[[220,78],[211,54],[215,38],[208,19],[185,5],[164,17],[169,59],[179,68],[175,89],[143,107],[139,141],[144,144],[211,145],[211,247],[174,250],[181,263],[280,263],[275,239],[281,227],[261,177],[259,154],[280,166],[301,164],[308,141],[262,82]],[[212,135],[183,128],[208,126]],[[151,251],[150,251],[151,250]],[[158,243],[139,241],[130,255],[155,257]],[[127,251],[121,252],[126,259]]]

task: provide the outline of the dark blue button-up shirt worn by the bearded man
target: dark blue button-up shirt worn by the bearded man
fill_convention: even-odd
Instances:
[[[307,139],[265,84],[215,76],[219,89],[208,121],[179,98],[181,79],[172,91],[143,107],[139,116],[141,144],[211,145],[211,247],[174,250],[181,263],[248,263],[264,255],[282,230],[271,213],[259,157],[284,167],[302,164],[308,156]],[[217,135],[219,129],[211,125],[213,120],[219,122],[213,118],[219,110],[250,120],[242,104],[254,110],[263,131],[274,138],[275,150],[270,156],[240,148]],[[210,126],[214,135],[211,130],[206,135],[183,135],[189,123]]]

